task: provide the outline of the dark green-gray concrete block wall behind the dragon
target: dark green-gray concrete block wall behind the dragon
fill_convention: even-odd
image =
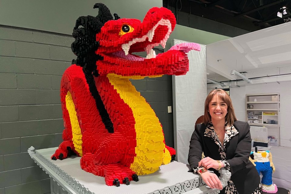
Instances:
[[[0,49],[0,193],[50,193],[49,176],[26,152],[62,142],[59,89],[63,72],[76,59],[70,48],[74,38],[8,27],[0,27],[0,34],[5,48]],[[173,147],[173,115],[167,112],[172,76],[131,81],[156,112],[166,145]]]

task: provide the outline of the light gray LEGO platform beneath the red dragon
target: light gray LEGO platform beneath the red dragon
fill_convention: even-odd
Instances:
[[[80,167],[80,157],[70,156],[64,160],[51,160],[57,148],[28,149],[29,155],[68,193],[82,194],[204,194],[219,193],[217,189],[206,188],[199,175],[187,172],[186,164],[171,162],[149,175],[139,176],[139,181],[119,187],[105,185],[104,177],[85,172]],[[224,181],[222,181],[224,182]],[[224,184],[223,184],[224,185]]]

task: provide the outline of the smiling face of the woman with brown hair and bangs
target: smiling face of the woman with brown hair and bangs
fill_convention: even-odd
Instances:
[[[209,114],[211,116],[211,120],[225,120],[225,116],[227,113],[227,105],[226,102],[223,102],[222,99],[218,97],[218,95],[214,95],[212,100],[208,105]]]

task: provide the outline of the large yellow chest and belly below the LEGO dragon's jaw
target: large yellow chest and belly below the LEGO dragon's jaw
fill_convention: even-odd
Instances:
[[[136,156],[130,168],[137,175],[157,171],[159,166],[171,160],[167,149],[165,158],[164,135],[159,119],[128,79],[120,79],[120,76],[115,74],[108,74],[107,77],[121,99],[132,109],[135,119]]]

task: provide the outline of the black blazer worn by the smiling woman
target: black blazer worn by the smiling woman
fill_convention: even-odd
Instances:
[[[239,194],[251,194],[259,186],[260,177],[249,156],[251,152],[250,126],[247,122],[235,121],[234,127],[239,132],[226,144],[226,161],[229,163],[231,179]],[[206,125],[197,124],[190,141],[188,162],[191,169],[198,165],[202,152],[205,157],[222,160],[218,146],[210,138],[204,136]],[[219,173],[213,170],[218,176]]]

